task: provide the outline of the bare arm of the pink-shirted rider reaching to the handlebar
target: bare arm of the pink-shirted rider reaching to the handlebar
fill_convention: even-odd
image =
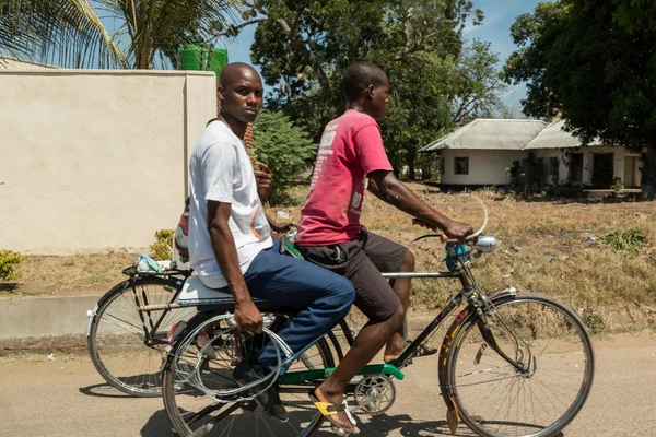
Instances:
[[[473,234],[470,225],[454,222],[429,206],[389,170],[376,170],[370,175],[368,190],[378,199],[408,214],[442,229],[449,238],[462,239]]]

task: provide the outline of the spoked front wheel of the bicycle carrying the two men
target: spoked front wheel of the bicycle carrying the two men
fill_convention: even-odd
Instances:
[[[593,385],[593,345],[581,319],[551,297],[493,298],[487,318],[502,357],[476,314],[453,338],[448,393],[479,436],[553,436],[581,411]]]

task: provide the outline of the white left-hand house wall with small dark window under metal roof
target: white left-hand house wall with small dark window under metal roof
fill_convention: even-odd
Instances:
[[[528,156],[522,151],[481,151],[481,150],[443,150],[440,158],[444,160],[444,174],[440,181],[445,185],[506,185],[506,167],[513,161]],[[456,175],[454,162],[456,157],[469,157],[469,175]]]

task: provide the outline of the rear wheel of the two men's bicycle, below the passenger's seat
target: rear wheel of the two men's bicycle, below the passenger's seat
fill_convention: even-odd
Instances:
[[[219,316],[221,317],[221,316]],[[277,318],[285,316],[277,315]],[[256,338],[238,334],[216,322],[216,314],[198,315],[175,340],[163,373],[164,406],[168,418],[180,436],[311,436],[321,427],[323,415],[311,402],[307,391],[312,383],[284,385],[280,398],[288,410],[289,421],[279,423],[270,417],[255,401],[244,400],[247,392],[230,399],[224,393],[238,390],[233,369],[239,359],[249,359],[259,347]],[[196,332],[212,326],[211,345],[216,358],[201,356],[187,344]],[[284,324],[284,323],[282,323]],[[271,328],[276,331],[276,328]],[[241,352],[235,352],[241,344]],[[289,371],[303,371],[333,367],[335,361],[325,339],[309,347],[295,361]],[[180,388],[184,382],[184,388]],[[271,381],[272,382],[272,381]],[[328,429],[328,427],[326,427]]]

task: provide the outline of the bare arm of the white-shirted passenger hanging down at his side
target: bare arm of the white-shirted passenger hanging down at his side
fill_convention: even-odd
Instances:
[[[261,332],[262,315],[253,303],[246,281],[239,268],[239,258],[235,239],[227,221],[232,205],[215,201],[208,201],[208,231],[212,241],[214,257],[227,281],[233,296],[235,296],[235,320],[242,331]]]

